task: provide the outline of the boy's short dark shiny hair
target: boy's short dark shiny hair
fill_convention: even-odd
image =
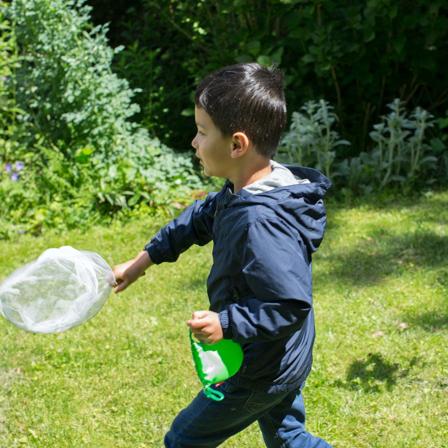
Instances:
[[[194,102],[223,136],[244,132],[259,154],[276,154],[286,125],[283,72],[276,65],[223,67],[199,83]]]

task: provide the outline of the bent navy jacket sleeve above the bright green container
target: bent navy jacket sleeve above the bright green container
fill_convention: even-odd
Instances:
[[[281,220],[259,220],[246,232],[242,270],[250,294],[220,312],[224,338],[245,344],[288,336],[312,307],[311,255]]]

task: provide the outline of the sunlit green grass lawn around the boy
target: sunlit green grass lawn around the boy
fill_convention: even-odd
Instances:
[[[329,205],[314,256],[308,430],[335,447],[448,447],[448,193]],[[163,222],[0,241],[0,280],[49,247],[133,257]],[[185,321],[207,308],[211,246],[151,267],[68,332],[0,320],[0,447],[163,447],[200,390]],[[253,425],[222,445],[264,447]]]

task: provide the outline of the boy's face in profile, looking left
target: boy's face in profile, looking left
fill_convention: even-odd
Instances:
[[[204,167],[206,176],[229,178],[232,175],[233,159],[231,157],[233,139],[223,137],[210,115],[204,109],[194,108],[194,118],[198,133],[191,142],[196,149],[196,157]]]

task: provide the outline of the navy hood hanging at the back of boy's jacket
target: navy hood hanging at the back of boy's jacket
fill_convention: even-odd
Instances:
[[[276,218],[285,220],[297,229],[310,252],[315,252],[325,232],[326,213],[323,196],[332,183],[321,172],[314,168],[283,165],[295,177],[308,179],[310,183],[281,186],[262,193],[252,194],[240,190],[233,194],[233,184],[227,181],[223,187],[224,207],[247,206],[267,207]],[[265,215],[260,213],[261,216]]]

